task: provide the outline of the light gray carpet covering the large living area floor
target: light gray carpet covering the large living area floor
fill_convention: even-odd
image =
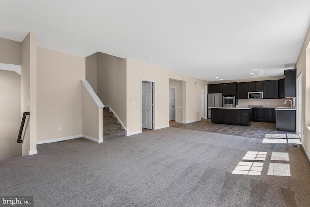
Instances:
[[[38,151],[0,161],[0,195],[33,195],[37,207],[310,206],[310,163],[288,143],[166,128]],[[261,175],[232,174],[247,151],[267,152]],[[271,161],[272,152],[289,161]],[[267,175],[269,163],[288,163],[291,176]]]

